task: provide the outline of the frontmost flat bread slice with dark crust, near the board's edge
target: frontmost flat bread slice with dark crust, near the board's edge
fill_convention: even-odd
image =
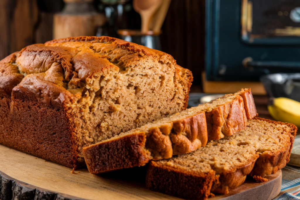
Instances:
[[[253,147],[208,142],[190,154],[151,161],[146,186],[184,199],[205,199],[212,192],[226,194],[244,182],[258,157]],[[202,181],[197,183],[199,176]]]

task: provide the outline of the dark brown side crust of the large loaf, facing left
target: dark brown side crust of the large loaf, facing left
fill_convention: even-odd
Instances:
[[[36,80],[29,87],[32,89],[32,86],[37,86],[34,89],[35,93],[18,85],[24,77],[16,66],[18,54],[19,52],[13,53],[0,61],[0,143],[73,167],[76,147],[72,142],[73,127],[70,119],[64,106],[58,101],[63,101],[63,97],[53,92],[51,85],[46,84],[43,87]],[[46,105],[38,102],[42,99],[39,96],[40,92],[45,90],[51,91],[49,94],[53,95],[51,105],[50,102]],[[45,115],[48,118],[45,118]],[[60,120],[57,120],[58,118]],[[35,137],[36,135],[38,137]]]

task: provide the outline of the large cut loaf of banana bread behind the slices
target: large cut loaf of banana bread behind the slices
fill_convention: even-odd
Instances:
[[[187,107],[189,70],[111,37],[34,44],[0,61],[0,143],[68,167],[82,147]]]

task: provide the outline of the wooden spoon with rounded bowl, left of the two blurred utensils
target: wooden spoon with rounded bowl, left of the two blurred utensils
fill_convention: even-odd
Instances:
[[[134,10],[140,13],[142,19],[141,32],[146,33],[149,31],[150,20],[153,14],[161,5],[162,0],[134,0]]]

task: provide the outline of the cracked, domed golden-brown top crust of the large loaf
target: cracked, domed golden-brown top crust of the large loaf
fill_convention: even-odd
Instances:
[[[52,82],[71,90],[71,93],[82,86],[98,90],[99,85],[95,82],[95,77],[111,71],[122,73],[127,68],[130,72],[130,68],[139,65],[142,59],[167,63],[173,69],[176,65],[173,57],[164,52],[111,37],[52,40],[45,44],[27,46],[10,57],[11,59],[2,60],[1,64],[6,68],[11,67],[11,73],[17,73],[19,70],[25,79],[30,77],[31,80],[33,77],[27,75],[35,74],[35,81]],[[38,73],[43,75],[36,75]],[[19,73],[14,76],[15,82],[18,83],[23,78]],[[32,82],[31,80],[26,83]],[[61,90],[59,87],[58,90]]]

